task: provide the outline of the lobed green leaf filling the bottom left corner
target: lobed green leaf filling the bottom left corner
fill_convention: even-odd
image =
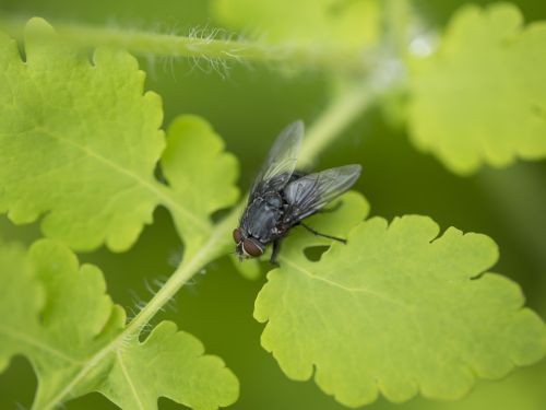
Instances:
[[[0,248],[0,368],[26,355],[38,377],[36,409],[100,391],[123,409],[157,409],[168,397],[194,409],[228,406],[238,382],[222,360],[176,325],[161,323],[140,342],[123,332],[126,314],[105,294],[102,272],[79,266],[63,245],[44,239],[28,258]],[[25,295],[24,298],[21,296]]]

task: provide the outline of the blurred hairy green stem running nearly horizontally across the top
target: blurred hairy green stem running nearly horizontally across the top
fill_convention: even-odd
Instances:
[[[276,63],[289,68],[321,69],[344,73],[365,73],[369,67],[364,54],[342,46],[308,44],[272,45],[238,39],[178,36],[120,27],[95,27],[55,22],[59,37],[84,47],[119,47],[141,56],[203,58],[210,61]],[[0,28],[15,38],[24,36],[24,21],[0,19]]]

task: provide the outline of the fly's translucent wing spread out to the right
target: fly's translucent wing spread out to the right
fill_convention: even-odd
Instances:
[[[301,221],[348,190],[360,176],[360,165],[345,165],[309,174],[288,184],[284,195],[292,209],[290,222]]]

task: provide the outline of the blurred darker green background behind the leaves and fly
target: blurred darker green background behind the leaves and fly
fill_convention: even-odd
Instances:
[[[462,1],[417,1],[430,26],[442,26]],[[479,1],[479,3],[487,3]],[[514,1],[526,21],[546,19],[544,0]],[[187,34],[192,27],[214,27],[201,0],[1,0],[0,14],[38,15],[50,20],[135,27]],[[289,12],[289,11],[287,11]],[[147,89],[163,96],[165,124],[178,114],[206,118],[225,138],[227,149],[240,159],[241,187],[249,186],[275,134],[296,118],[312,121],[328,103],[328,82],[318,73],[285,77],[271,68],[233,66],[227,75],[207,72],[189,61],[141,59]],[[206,66],[203,66],[206,68]],[[484,169],[459,177],[407,141],[404,130],[389,127],[379,109],[371,109],[335,145],[323,153],[318,167],[360,163],[363,177],[356,189],[371,202],[372,214],[427,214],[442,229],[491,236],[500,246],[495,271],[518,281],[527,303],[546,317],[546,164],[519,163],[507,169]],[[0,219],[2,236],[31,243],[38,229],[12,226]],[[130,312],[150,298],[146,282],[174,270],[181,245],[168,213],[158,209],[128,253],[105,249],[81,255],[105,272],[109,293]],[[265,269],[265,267],[264,267]],[[248,281],[224,258],[182,289],[173,307],[154,319],[169,318],[195,335],[209,353],[222,356],[241,383],[233,409],[343,409],[312,382],[287,379],[273,358],[260,347],[262,325],[252,318],[253,301],[263,284]],[[24,297],[22,295],[22,297]],[[387,329],[385,329],[387,331]],[[0,409],[28,408],[36,387],[32,368],[15,359],[0,375]],[[67,403],[67,409],[115,409],[98,394]],[[162,399],[161,409],[182,406]],[[369,409],[473,410],[546,409],[546,363],[522,368],[500,382],[482,382],[464,400],[453,403],[417,398],[405,405],[380,399]]]

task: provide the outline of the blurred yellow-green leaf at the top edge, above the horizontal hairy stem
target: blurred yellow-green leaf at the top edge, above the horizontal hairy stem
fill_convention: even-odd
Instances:
[[[212,12],[269,43],[360,48],[377,42],[381,28],[376,0],[215,0]]]

